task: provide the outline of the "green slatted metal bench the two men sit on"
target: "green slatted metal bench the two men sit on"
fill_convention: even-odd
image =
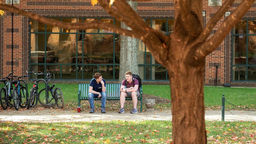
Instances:
[[[81,100],[89,100],[89,86],[90,84],[79,84],[77,107],[81,106]],[[106,100],[120,100],[120,87],[121,84],[106,84]],[[138,97],[140,100],[140,111],[142,112],[142,86],[140,88],[141,96]],[[94,98],[94,100],[101,100],[101,98]],[[132,98],[125,98],[125,100],[132,100]]]

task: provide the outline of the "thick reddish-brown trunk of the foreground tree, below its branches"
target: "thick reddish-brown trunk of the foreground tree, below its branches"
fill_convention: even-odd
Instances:
[[[173,143],[206,143],[204,62],[191,65],[175,60],[168,68],[168,74],[172,94]]]

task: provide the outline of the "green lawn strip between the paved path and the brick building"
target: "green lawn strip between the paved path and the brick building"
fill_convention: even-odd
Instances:
[[[32,83],[28,84],[29,89],[31,89],[32,85]],[[3,84],[0,86],[2,87]],[[55,86],[61,88],[65,104],[74,105],[74,108],[76,108],[78,84],[56,84]],[[39,84],[39,90],[42,88],[45,88],[45,86]],[[171,99],[169,85],[144,85],[143,93]],[[238,87],[204,87],[205,107],[207,109],[220,109],[222,94],[225,94],[226,100],[234,105],[248,109],[256,109],[256,89]],[[170,104],[166,105],[170,106]],[[162,105],[158,107],[162,107]],[[236,108],[226,102],[226,109],[230,110]]]

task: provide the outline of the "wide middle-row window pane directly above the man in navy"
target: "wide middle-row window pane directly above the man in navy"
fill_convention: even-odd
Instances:
[[[84,35],[84,63],[113,64],[113,35]]]

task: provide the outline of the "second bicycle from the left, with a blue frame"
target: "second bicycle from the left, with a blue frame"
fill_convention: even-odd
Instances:
[[[27,82],[23,79],[20,79],[22,77],[28,77],[28,75],[23,76],[10,76],[15,77],[17,80],[13,80],[12,84],[15,85],[13,89],[13,105],[16,110],[19,109],[19,107],[24,108],[27,106],[28,102],[28,89],[27,89]],[[20,83],[20,81],[23,81],[25,83],[25,87]]]

